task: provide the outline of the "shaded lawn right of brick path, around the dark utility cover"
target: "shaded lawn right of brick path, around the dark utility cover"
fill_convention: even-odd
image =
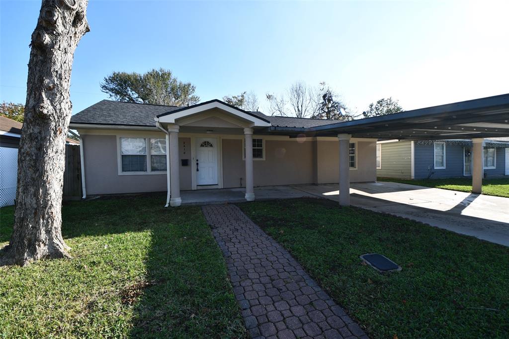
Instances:
[[[509,247],[319,199],[239,205],[374,338],[507,338]],[[382,275],[359,256],[403,267]]]

